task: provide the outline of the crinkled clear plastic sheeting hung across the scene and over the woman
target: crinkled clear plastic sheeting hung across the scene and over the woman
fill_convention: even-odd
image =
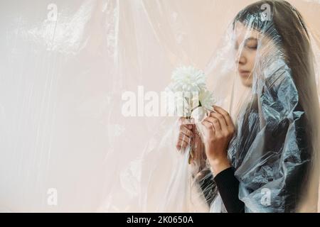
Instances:
[[[233,118],[245,211],[316,211],[320,4],[253,3],[1,1],[0,211],[225,212],[203,125],[189,164],[161,112],[181,65]]]

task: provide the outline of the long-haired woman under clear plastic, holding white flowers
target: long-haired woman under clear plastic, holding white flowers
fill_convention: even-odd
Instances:
[[[236,126],[219,106],[200,128],[182,123],[176,146],[191,141],[210,206],[221,198],[228,212],[316,211],[319,101],[302,16],[287,1],[258,1],[238,13],[233,31],[249,101]]]

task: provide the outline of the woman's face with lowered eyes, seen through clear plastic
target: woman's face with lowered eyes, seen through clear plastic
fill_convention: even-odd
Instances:
[[[235,24],[235,63],[245,87],[252,87],[259,35],[258,31],[248,29],[240,22]]]

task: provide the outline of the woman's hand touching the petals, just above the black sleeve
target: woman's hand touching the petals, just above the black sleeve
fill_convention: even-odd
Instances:
[[[231,167],[227,149],[235,133],[235,126],[227,111],[213,106],[215,111],[202,122],[206,155],[213,170],[213,175]]]

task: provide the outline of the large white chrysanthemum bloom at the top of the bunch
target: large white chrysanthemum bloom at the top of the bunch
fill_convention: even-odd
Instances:
[[[175,92],[200,92],[206,87],[206,74],[192,66],[176,68],[171,79]]]

